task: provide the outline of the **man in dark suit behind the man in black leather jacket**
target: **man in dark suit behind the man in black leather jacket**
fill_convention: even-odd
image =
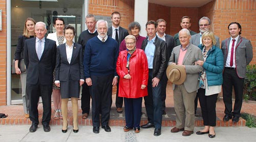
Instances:
[[[173,51],[173,48],[175,47],[175,40],[174,37],[168,34],[165,34],[166,31],[166,24],[167,22],[164,19],[158,19],[156,21],[157,23],[157,37],[161,38],[167,43],[167,60],[170,58],[170,54]],[[166,76],[166,70],[162,77],[162,89],[161,89],[161,97],[163,101],[163,114],[166,114],[165,112],[165,99],[166,99],[166,85],[167,85],[167,76]]]

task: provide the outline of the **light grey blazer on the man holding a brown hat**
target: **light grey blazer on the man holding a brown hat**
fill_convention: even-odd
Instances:
[[[175,54],[177,62],[180,55],[180,45],[173,49],[172,56],[170,56],[169,65],[174,62]],[[199,73],[203,71],[203,67],[200,65],[195,65],[195,61],[200,59],[203,61],[203,55],[198,46],[189,43],[187,52],[183,58],[182,65],[185,65],[186,79],[184,82],[185,89],[187,92],[193,92],[199,89]],[[175,89],[175,84],[173,84],[173,89]]]

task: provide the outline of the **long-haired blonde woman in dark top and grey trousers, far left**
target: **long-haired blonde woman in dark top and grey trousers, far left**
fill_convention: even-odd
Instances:
[[[24,106],[25,117],[29,118],[29,97],[26,93],[26,78],[27,73],[20,72],[18,67],[19,60],[23,59],[23,51],[24,51],[24,42],[28,38],[35,37],[35,20],[33,18],[28,17],[25,21],[23,35],[18,37],[18,43],[15,51],[15,71],[17,75],[20,75],[20,82],[22,82],[22,100]]]

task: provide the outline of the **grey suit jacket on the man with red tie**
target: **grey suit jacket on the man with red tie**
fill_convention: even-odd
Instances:
[[[224,55],[224,65],[227,60],[230,39],[231,37],[221,42],[221,49]],[[250,40],[239,36],[235,50],[236,70],[239,78],[246,77],[246,66],[250,63],[252,57],[253,53]]]

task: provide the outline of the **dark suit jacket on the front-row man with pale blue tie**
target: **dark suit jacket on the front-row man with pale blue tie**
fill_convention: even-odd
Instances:
[[[53,70],[56,62],[56,43],[45,38],[45,49],[40,60],[36,54],[36,38],[25,40],[24,62],[27,68],[27,83],[50,85],[53,83]]]

